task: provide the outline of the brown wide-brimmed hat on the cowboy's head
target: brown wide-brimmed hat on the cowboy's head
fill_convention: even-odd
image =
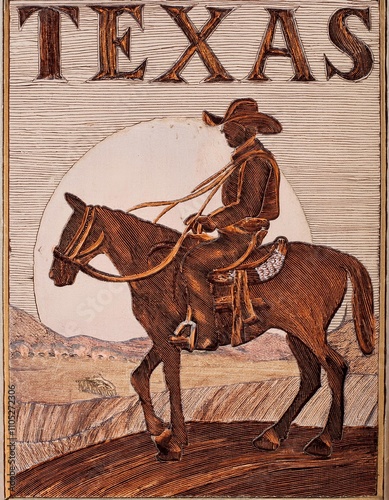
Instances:
[[[270,115],[260,113],[257,102],[250,98],[232,101],[224,117],[203,111],[203,120],[211,127],[231,121],[251,125],[259,134],[279,134],[282,130],[281,123]]]

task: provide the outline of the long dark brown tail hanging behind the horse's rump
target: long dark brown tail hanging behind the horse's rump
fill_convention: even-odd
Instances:
[[[364,354],[374,350],[373,286],[366,268],[351,255],[344,262],[353,286],[353,318],[359,346]]]

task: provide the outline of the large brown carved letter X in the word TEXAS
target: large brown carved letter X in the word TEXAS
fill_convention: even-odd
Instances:
[[[234,78],[224,69],[219,59],[216,57],[213,50],[210,48],[206,39],[215,31],[221,21],[233,9],[216,9],[207,7],[210,13],[210,18],[198,32],[188,17],[188,12],[192,7],[169,7],[161,5],[166,10],[170,17],[185,33],[190,41],[190,44],[185,49],[181,57],[173,64],[173,66],[163,75],[156,78],[156,82],[184,82],[180,76],[192,56],[197,52],[200,59],[209,71],[209,76],[205,79],[206,82],[225,82],[232,81]]]

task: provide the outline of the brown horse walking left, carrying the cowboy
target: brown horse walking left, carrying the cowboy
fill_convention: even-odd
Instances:
[[[202,239],[191,233],[181,238],[174,259],[150,275],[150,266],[155,266],[177,245],[181,233],[121,210],[86,205],[69,193],[65,198],[73,213],[54,249],[49,276],[56,286],[72,285],[79,271],[105,281],[128,282],[133,313],[152,340],[151,349],[131,375],[131,383],[157,448],[157,459],[181,460],[188,445],[180,390],[181,349],[169,338],[187,313],[179,279],[180,262]],[[89,264],[98,254],[105,254],[111,260],[118,276],[98,271]],[[321,385],[321,368],[327,373],[332,401],[324,428],[306,444],[304,451],[327,458],[332,453],[333,441],[342,438],[348,366],[328,345],[326,331],[343,302],[348,278],[353,288],[357,340],[361,351],[368,355],[374,349],[372,283],[355,257],[330,247],[289,242],[282,270],[271,280],[251,287],[250,294],[266,304],[258,311],[258,321],[250,327],[252,338],[270,328],[283,330],[300,371],[300,386],[289,407],[277,422],[253,440],[259,450],[276,450],[287,438],[292,421]],[[203,313],[208,318],[214,314],[212,304],[205,306]],[[228,332],[223,338],[226,345]],[[160,363],[170,398],[169,424],[156,415],[150,394],[150,376]]]

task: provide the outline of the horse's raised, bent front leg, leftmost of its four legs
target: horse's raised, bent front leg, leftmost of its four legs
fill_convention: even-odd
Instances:
[[[154,412],[150,394],[150,376],[160,362],[161,357],[153,346],[131,375],[131,384],[139,396],[147,430],[153,436],[159,436],[166,428],[164,422]]]

